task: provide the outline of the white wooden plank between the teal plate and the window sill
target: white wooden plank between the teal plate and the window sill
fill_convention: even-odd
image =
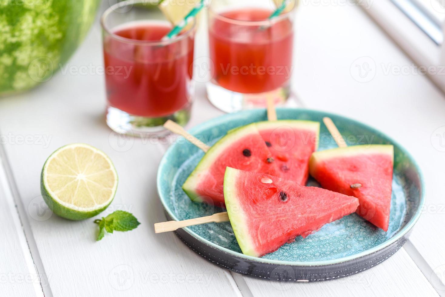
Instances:
[[[422,257],[414,260],[427,262],[429,269],[422,269],[427,279],[438,275],[444,282],[444,94],[416,72],[360,8],[307,5],[299,16],[295,91],[308,108],[348,116],[385,132],[417,160],[427,195],[424,214],[410,237]],[[443,284],[433,281],[433,286],[445,296]]]

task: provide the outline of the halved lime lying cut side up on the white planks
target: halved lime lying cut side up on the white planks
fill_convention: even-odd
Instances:
[[[46,160],[40,187],[53,213],[83,220],[101,213],[113,201],[117,173],[109,157],[97,148],[69,144]]]

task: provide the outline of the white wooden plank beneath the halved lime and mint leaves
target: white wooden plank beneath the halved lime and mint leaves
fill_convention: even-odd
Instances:
[[[101,67],[101,59],[97,26],[68,67]],[[142,223],[96,242],[93,219],[74,222],[51,213],[36,219],[37,210],[29,208],[27,219],[53,295],[239,294],[230,273],[202,259],[174,233],[154,233],[153,224],[166,220],[156,192],[157,140],[115,136],[105,125],[104,89],[103,76],[59,72],[32,92],[0,102],[0,126],[9,137],[5,147],[25,209],[37,202],[44,210],[40,170],[49,154],[85,142],[108,154],[119,174],[117,195],[98,217],[124,209]]]

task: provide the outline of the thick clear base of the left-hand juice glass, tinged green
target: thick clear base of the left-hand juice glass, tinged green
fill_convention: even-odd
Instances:
[[[118,108],[107,107],[107,125],[115,132],[130,136],[166,136],[171,132],[162,125],[167,120],[185,126],[190,120],[191,104],[170,116],[149,117],[134,116]]]

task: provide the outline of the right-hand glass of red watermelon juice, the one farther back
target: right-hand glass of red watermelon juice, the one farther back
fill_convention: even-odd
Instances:
[[[226,4],[228,3],[228,4]],[[269,18],[281,0],[212,1],[209,49],[212,79],[210,102],[225,112],[265,107],[289,97],[292,72],[295,0],[279,16]]]

